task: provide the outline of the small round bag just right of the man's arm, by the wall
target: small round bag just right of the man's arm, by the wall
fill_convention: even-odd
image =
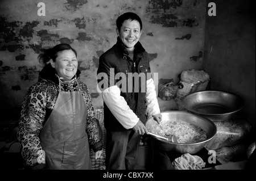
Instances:
[[[174,83],[174,79],[160,79],[158,89],[161,99],[171,100],[176,96],[178,86]]]

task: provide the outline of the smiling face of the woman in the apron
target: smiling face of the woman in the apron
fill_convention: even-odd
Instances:
[[[78,61],[72,50],[59,52],[55,62],[50,62],[57,74],[64,79],[72,79],[77,72]]]

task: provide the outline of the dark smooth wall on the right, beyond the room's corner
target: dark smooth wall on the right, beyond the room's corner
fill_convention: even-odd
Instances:
[[[255,5],[253,1],[215,2],[216,16],[206,16],[204,69],[210,89],[234,92],[245,100],[241,114],[255,141]]]

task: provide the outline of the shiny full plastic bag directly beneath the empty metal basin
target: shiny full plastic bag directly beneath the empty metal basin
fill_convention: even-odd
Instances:
[[[206,146],[210,150],[238,144],[251,129],[250,125],[238,116],[233,116],[226,121],[214,122],[214,124],[217,127],[217,133]]]

